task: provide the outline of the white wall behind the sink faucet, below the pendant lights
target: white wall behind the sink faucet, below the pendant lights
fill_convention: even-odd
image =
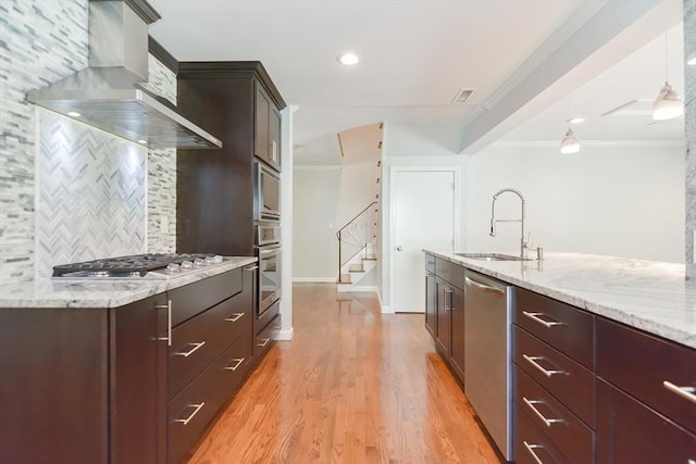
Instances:
[[[519,253],[520,226],[488,236],[493,195],[526,198],[527,230],[546,252],[571,251],[684,262],[684,146],[593,146],[563,155],[557,143],[494,145],[469,160],[467,246]],[[520,216],[505,193],[496,217]]]

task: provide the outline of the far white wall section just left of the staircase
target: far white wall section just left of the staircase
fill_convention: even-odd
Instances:
[[[293,185],[293,280],[335,283],[340,166],[295,166]]]

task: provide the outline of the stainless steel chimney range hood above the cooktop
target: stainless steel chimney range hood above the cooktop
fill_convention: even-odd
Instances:
[[[221,148],[221,140],[142,87],[148,25],[159,18],[145,0],[91,0],[89,67],[32,90],[26,99],[148,147]]]

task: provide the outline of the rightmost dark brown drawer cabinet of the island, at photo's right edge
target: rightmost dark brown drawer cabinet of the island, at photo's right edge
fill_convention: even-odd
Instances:
[[[597,461],[696,461],[696,352],[597,319]]]

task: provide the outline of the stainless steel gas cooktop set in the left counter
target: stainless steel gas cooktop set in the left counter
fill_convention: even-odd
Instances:
[[[224,262],[219,254],[148,253],[53,266],[62,278],[171,278]]]

